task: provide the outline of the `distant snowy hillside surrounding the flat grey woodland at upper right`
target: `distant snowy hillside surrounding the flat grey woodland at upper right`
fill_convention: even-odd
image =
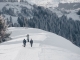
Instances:
[[[55,7],[59,6],[59,3],[79,3],[80,2],[80,0],[26,0],[26,1],[28,1],[31,4],[37,4],[38,6],[44,6],[44,7],[47,7],[47,8],[52,8],[50,10],[53,11],[54,13],[56,13],[59,17],[61,17],[62,15],[65,14],[63,12],[67,12],[67,10],[64,9],[64,8],[63,8],[64,10],[59,10],[59,11],[55,9]],[[76,4],[74,4],[73,7],[75,5]],[[76,14],[77,9],[78,8],[68,10],[70,13],[65,14],[65,15],[68,18],[72,18],[74,20],[79,20],[80,21],[80,16]]]

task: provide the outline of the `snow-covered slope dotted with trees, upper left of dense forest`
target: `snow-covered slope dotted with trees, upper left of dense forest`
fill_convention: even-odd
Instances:
[[[6,9],[5,9],[5,8]],[[4,18],[7,20],[10,20],[10,16],[12,16],[12,21],[13,21],[13,24],[14,23],[18,23],[17,22],[17,19],[18,19],[18,17],[19,17],[19,14],[22,14],[21,13],[21,10],[22,10],[22,8],[27,8],[28,9],[28,13],[30,13],[30,10],[32,9],[32,6],[31,6],[31,4],[29,4],[28,2],[26,2],[26,3],[19,3],[19,2],[0,2],[0,11],[2,11],[3,12],[3,15],[4,15]],[[4,9],[3,9],[4,8]],[[11,15],[11,13],[9,14],[9,12],[5,12],[5,11],[7,11],[7,10],[9,10],[9,9],[12,9],[12,11],[11,11],[11,13],[12,14],[14,14],[14,16],[13,15]],[[3,11],[3,10],[5,10],[5,11]],[[24,15],[24,14],[22,14],[23,16],[26,16],[26,15]],[[32,14],[30,13],[29,14],[30,15],[30,17],[32,16]],[[29,16],[27,16],[27,18],[28,18]]]

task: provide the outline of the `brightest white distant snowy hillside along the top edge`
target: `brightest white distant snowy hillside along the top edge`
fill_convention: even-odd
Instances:
[[[31,4],[37,4],[45,7],[57,7],[59,3],[74,3],[80,0],[26,0]]]

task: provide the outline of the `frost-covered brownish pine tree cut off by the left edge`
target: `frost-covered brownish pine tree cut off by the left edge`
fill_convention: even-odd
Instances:
[[[5,20],[0,16],[0,42],[3,42],[10,36],[11,33],[7,33],[7,25]]]

